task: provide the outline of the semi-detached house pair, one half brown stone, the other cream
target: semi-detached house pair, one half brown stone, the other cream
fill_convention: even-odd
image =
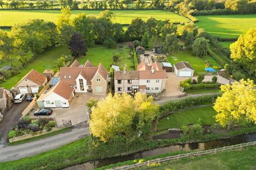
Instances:
[[[157,94],[165,89],[166,79],[166,71],[162,66],[156,62],[150,66],[142,62],[137,71],[115,71],[115,92]]]

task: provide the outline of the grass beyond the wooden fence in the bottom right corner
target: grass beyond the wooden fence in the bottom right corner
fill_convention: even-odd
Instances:
[[[227,150],[217,154],[209,154],[199,157],[182,158],[164,162],[161,166],[142,167],[140,169],[169,169],[169,170],[233,170],[233,169],[255,169],[256,147],[246,147],[236,150]]]

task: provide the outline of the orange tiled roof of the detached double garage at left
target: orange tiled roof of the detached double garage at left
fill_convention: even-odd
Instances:
[[[33,81],[34,83],[38,84],[39,86],[42,86],[47,79],[45,75],[35,71],[34,69],[30,70],[28,74],[25,75],[17,84],[16,86],[24,79],[28,79],[30,81]]]

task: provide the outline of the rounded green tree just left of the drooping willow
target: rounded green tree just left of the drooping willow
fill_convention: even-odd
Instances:
[[[179,49],[178,43],[179,39],[174,33],[167,35],[164,41],[164,51],[166,53],[177,52]]]

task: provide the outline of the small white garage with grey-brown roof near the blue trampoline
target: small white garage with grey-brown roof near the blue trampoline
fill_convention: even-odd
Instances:
[[[193,77],[194,70],[189,62],[179,62],[174,64],[174,72],[178,77]]]

